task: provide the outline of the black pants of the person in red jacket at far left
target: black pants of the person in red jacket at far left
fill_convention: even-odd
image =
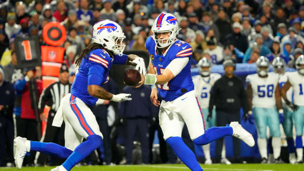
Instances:
[[[16,118],[17,120],[17,118]],[[17,122],[17,136],[26,138],[30,141],[37,141],[37,122],[33,119],[18,118]],[[36,151],[30,151],[29,156],[25,156],[24,165],[33,165]]]

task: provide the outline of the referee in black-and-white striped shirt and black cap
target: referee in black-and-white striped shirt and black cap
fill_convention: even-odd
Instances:
[[[70,93],[71,86],[72,84],[69,83],[69,69],[66,65],[63,64],[60,68],[59,81],[52,83],[49,87],[47,87],[42,92],[39,99],[38,108],[41,112],[40,119],[42,121],[47,121],[45,134],[42,136],[40,140],[41,142],[52,142],[64,146],[64,125],[61,127],[55,127],[51,124],[59,108],[61,99]],[[46,119],[43,114],[45,105],[48,105],[50,107],[48,119]],[[40,155],[36,155],[36,159],[37,157],[37,164],[48,164],[48,156],[46,154],[40,153]]]

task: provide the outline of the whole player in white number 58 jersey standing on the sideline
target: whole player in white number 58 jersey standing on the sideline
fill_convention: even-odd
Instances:
[[[275,163],[280,163],[280,129],[279,123],[283,122],[283,108],[279,90],[279,76],[269,73],[269,60],[261,56],[256,61],[257,73],[246,77],[247,96],[250,117],[254,117],[258,132],[257,145],[262,157],[262,163],[267,163],[266,128],[270,129],[272,147],[274,149]],[[277,106],[277,108],[276,108]],[[279,114],[277,112],[279,109]]]

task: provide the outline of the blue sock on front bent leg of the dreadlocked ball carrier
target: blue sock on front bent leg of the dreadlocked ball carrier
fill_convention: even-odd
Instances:
[[[70,157],[62,164],[62,166],[70,171],[77,163],[88,156],[92,151],[101,146],[102,138],[99,135],[90,135],[87,141],[78,145]]]

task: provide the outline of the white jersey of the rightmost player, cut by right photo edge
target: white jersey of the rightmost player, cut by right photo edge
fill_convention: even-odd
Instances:
[[[293,72],[288,74],[288,80],[294,91],[294,103],[298,106],[304,106],[304,75]]]

